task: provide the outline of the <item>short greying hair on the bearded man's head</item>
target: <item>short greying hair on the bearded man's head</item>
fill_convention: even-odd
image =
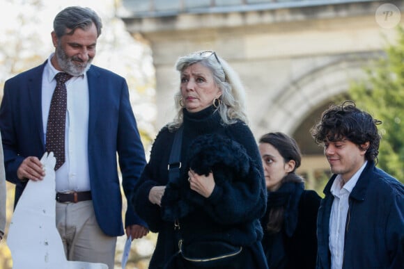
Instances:
[[[66,34],[66,29],[71,29],[68,33],[72,35],[77,28],[86,30],[94,24],[97,28],[97,37],[101,35],[102,22],[97,13],[91,8],[81,8],[70,6],[59,12],[54,19],[54,32],[57,38]]]

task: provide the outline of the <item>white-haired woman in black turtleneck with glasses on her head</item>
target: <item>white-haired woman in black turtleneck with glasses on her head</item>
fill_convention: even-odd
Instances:
[[[265,179],[242,83],[215,51],[182,56],[176,70],[178,113],[155,138],[132,199],[158,233],[149,268],[267,268]]]

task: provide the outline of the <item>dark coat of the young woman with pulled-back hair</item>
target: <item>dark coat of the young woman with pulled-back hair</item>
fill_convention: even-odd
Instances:
[[[295,175],[295,177],[297,177]],[[314,190],[304,190],[297,182],[285,183],[276,192],[268,193],[267,212],[263,225],[263,249],[269,268],[316,268],[316,222],[320,196]],[[270,209],[283,206],[281,231],[267,231]]]

